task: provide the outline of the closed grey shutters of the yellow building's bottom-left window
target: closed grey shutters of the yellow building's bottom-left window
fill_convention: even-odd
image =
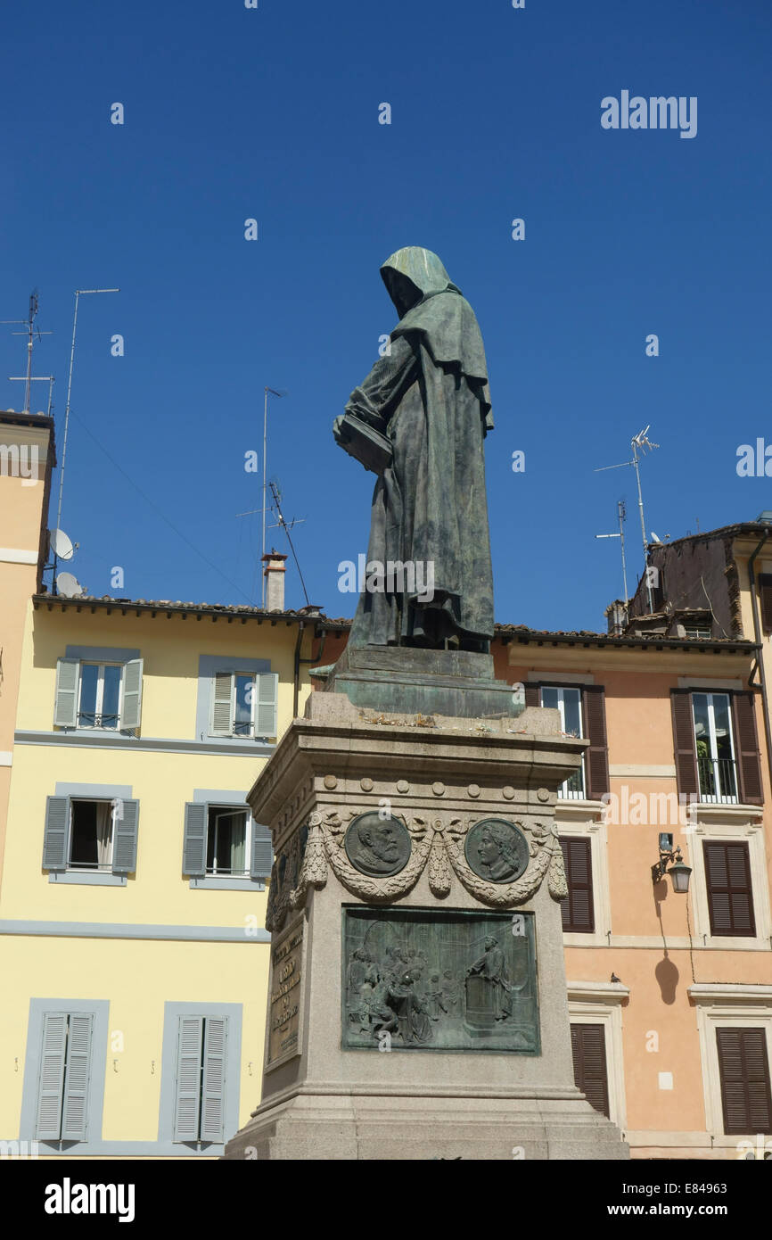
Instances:
[[[38,1141],[86,1141],[93,1016],[45,1012],[40,1053]]]

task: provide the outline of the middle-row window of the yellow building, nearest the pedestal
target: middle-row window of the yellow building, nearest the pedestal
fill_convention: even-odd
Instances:
[[[185,806],[182,872],[191,878],[266,878],[273,856],[269,828],[255,822],[245,806],[208,801]]]

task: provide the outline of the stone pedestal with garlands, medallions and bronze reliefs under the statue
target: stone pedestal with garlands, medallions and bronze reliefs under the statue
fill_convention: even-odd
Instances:
[[[271,981],[227,1158],[628,1157],[574,1085],[554,808],[586,742],[559,728],[311,696],[249,795]]]

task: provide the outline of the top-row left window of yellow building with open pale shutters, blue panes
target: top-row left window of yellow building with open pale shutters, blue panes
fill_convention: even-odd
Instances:
[[[57,728],[136,732],[141,697],[141,658],[125,662],[59,658],[53,723]]]

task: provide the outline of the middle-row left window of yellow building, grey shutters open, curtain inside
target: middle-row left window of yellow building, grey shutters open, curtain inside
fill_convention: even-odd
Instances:
[[[50,796],[42,868],[90,874],[136,869],[139,801]]]

